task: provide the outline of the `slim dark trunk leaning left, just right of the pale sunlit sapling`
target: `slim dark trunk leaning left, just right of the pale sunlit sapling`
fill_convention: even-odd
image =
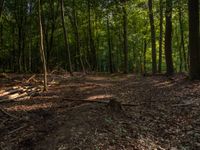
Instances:
[[[68,63],[69,63],[69,72],[71,75],[73,75],[72,72],[72,64],[71,64],[71,54],[69,50],[69,43],[67,39],[67,29],[65,27],[65,13],[64,13],[64,1],[61,0],[61,15],[62,15],[62,26],[63,26],[63,33],[64,33],[64,40],[65,40],[65,48],[67,50],[67,56],[68,56]]]

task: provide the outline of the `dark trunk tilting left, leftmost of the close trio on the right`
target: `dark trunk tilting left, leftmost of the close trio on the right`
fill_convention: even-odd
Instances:
[[[151,26],[152,73],[155,74],[157,72],[157,64],[156,64],[156,33],[155,33],[155,26],[154,26],[152,0],[148,0],[148,6],[149,6],[149,20],[150,20],[150,26]]]

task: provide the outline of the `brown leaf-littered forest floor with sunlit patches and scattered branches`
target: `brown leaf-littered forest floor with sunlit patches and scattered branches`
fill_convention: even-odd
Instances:
[[[41,80],[0,78],[0,149],[200,149],[199,81],[181,74],[51,74],[48,92],[41,92]],[[126,104],[122,110],[106,104],[113,98]]]

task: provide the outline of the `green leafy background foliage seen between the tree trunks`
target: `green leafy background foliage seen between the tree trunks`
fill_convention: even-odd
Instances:
[[[173,59],[177,71],[180,66],[179,50],[180,42],[180,24],[179,10],[183,16],[184,43],[187,53],[188,47],[188,16],[187,1],[173,1]],[[98,70],[109,70],[109,54],[107,42],[107,16],[111,30],[112,57],[115,71],[123,70],[123,16],[122,1],[117,0],[98,0],[90,1],[91,4],[91,30],[97,51]],[[9,68],[16,71],[19,65],[22,65],[23,71],[39,71],[39,27],[37,1],[33,0],[9,0],[4,4],[2,13],[1,35],[0,35],[0,67]],[[69,32],[69,45],[72,55],[73,69],[77,67],[78,54],[76,51],[76,38],[74,31],[74,12],[76,10],[76,20],[80,36],[80,55],[84,66],[89,70],[89,36],[88,36],[88,0],[65,1],[65,21]],[[165,5],[164,5],[165,10]],[[156,48],[159,49],[159,1],[153,1],[154,22],[156,28]],[[151,70],[151,43],[150,43],[150,23],[148,18],[147,0],[127,1],[128,15],[128,57],[129,71],[141,72],[144,65],[144,41],[147,41],[146,68]],[[49,57],[48,68],[55,67],[66,68],[67,54],[64,48],[64,38],[61,23],[60,4],[57,0],[42,1],[42,21],[45,37],[46,57]],[[53,34],[53,44],[51,45],[52,25],[55,25]],[[163,27],[165,26],[165,20]],[[163,33],[164,34],[164,33]],[[164,43],[163,43],[164,48]],[[49,55],[49,56],[47,56]],[[158,56],[158,55],[157,55]],[[163,52],[164,58],[164,52]],[[19,59],[22,59],[19,64]],[[158,59],[158,58],[157,58]],[[2,63],[4,62],[4,63]],[[165,62],[163,59],[163,68]],[[19,71],[19,70],[18,70]]]

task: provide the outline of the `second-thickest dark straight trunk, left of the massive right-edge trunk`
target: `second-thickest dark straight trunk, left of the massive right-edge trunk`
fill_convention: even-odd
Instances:
[[[172,0],[166,0],[166,31],[165,31],[165,60],[167,75],[174,73],[172,60]]]

